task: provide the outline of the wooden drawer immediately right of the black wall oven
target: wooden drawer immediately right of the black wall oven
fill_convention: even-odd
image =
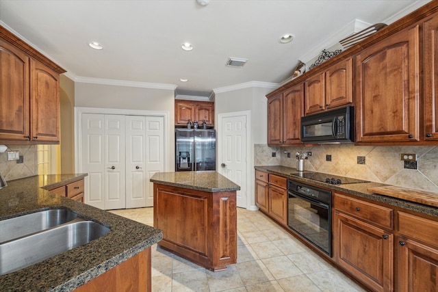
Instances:
[[[335,209],[355,217],[368,220],[374,224],[393,229],[394,210],[335,194]]]

